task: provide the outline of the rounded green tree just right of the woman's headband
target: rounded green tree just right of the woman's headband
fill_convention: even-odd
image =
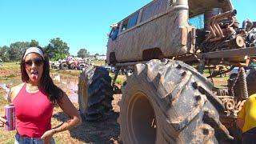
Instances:
[[[53,38],[50,43],[44,47],[46,54],[48,54],[50,59],[58,60],[65,58],[70,55],[70,47],[66,42],[63,42],[60,38]]]

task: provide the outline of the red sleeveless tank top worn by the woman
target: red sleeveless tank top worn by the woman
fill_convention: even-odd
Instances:
[[[50,119],[54,106],[42,90],[33,94],[28,93],[25,83],[13,103],[18,134],[24,137],[41,138],[46,130],[51,129]]]

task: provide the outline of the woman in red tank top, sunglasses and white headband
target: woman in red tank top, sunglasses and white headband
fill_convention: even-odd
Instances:
[[[49,59],[42,49],[30,47],[21,60],[22,84],[10,90],[8,101],[16,112],[15,143],[54,143],[52,136],[78,126],[81,117],[67,95],[50,78]],[[51,129],[50,119],[54,105],[58,104],[70,117],[68,122]],[[6,124],[0,118],[0,126]]]

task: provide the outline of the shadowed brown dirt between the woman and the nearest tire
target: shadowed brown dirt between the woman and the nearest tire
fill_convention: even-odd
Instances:
[[[115,94],[112,101],[114,112],[102,122],[82,122],[81,126],[54,135],[57,142],[65,143],[120,143],[119,125],[117,122],[119,106],[118,101],[121,94]],[[78,107],[78,104],[74,104]],[[67,117],[59,108],[54,110],[52,126],[58,126],[60,122],[65,122]]]

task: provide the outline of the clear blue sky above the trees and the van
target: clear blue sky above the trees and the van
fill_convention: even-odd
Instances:
[[[232,0],[238,20],[256,21],[255,0]],[[151,0],[0,0],[0,46],[35,39],[46,46],[61,38],[76,55],[80,48],[90,54],[106,54],[110,25]]]

